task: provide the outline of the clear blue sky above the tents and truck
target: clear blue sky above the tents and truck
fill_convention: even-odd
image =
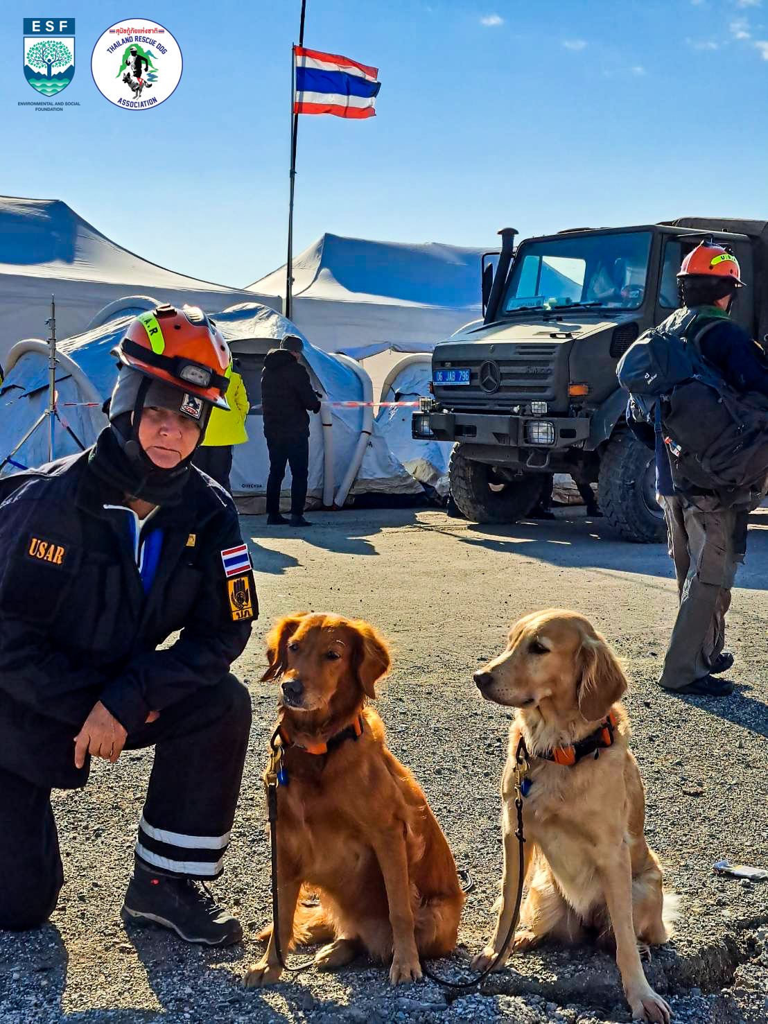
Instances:
[[[55,9],[54,9],[55,8]],[[243,286],[285,260],[300,0],[62,0],[0,11],[0,193],[61,199],[174,270]],[[76,75],[36,114],[23,17],[75,16]],[[108,102],[96,38],[142,14],[184,71]],[[307,0],[305,45],[379,68],[378,116],[302,117],[294,252],[324,231],[493,248],[675,216],[768,215],[768,0]]]

